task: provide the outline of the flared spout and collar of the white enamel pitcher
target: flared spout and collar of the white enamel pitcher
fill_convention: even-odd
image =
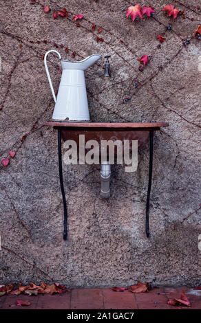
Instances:
[[[80,60],[79,62],[71,62],[70,60],[61,60],[61,65],[63,69],[80,69],[85,71],[88,67],[94,65],[94,63],[99,60],[101,56],[99,54],[93,54],[87,58]]]

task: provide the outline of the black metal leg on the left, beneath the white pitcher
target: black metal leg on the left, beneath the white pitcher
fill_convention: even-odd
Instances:
[[[61,185],[61,194],[63,197],[63,239],[67,240],[67,205],[65,199],[65,191],[63,187],[63,172],[62,172],[62,156],[61,156],[61,129],[58,129],[58,153],[59,153],[59,179]]]

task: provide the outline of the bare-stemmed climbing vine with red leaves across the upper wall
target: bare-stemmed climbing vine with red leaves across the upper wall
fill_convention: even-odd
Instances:
[[[187,47],[190,45],[192,40],[200,41],[201,25],[199,21],[198,27],[195,30],[194,28],[192,28],[191,34],[187,34],[184,38],[180,36],[179,32],[176,30],[176,27],[174,27],[174,22],[176,21],[176,19],[189,19],[191,21],[195,21],[195,18],[188,16],[187,11],[190,11],[193,14],[200,14],[200,7],[197,6],[195,8],[190,8],[187,7],[187,5],[181,3],[180,1],[173,1],[173,5],[167,3],[165,7],[160,8],[160,10],[157,12],[156,9],[153,8],[153,6],[149,3],[149,1],[147,1],[147,5],[145,6],[141,6],[140,4],[131,5],[129,1],[125,1],[125,3],[127,3],[127,5],[125,10],[123,11],[123,15],[125,16],[125,21],[127,19],[127,23],[137,25],[138,22],[142,19],[145,19],[146,22],[149,21],[149,19],[152,19],[153,21],[156,21],[158,23],[158,28],[156,28],[156,37],[155,39],[153,39],[153,42],[156,41],[156,47],[151,53],[145,52],[141,57],[138,57],[137,52],[132,47],[130,47],[129,43],[126,43],[124,39],[118,38],[118,36],[116,36],[116,33],[112,29],[108,30],[105,26],[98,25],[96,21],[89,20],[85,12],[71,12],[67,8],[60,8],[56,1],[51,1],[51,5],[49,5],[48,3],[41,3],[41,1],[37,0],[30,1],[30,5],[40,6],[40,10],[44,14],[44,16],[50,16],[50,18],[54,21],[61,21],[65,19],[66,23],[73,24],[75,28],[82,28],[83,30],[85,30],[85,32],[87,32],[87,34],[90,34],[95,39],[98,45],[105,46],[105,48],[109,49],[120,60],[122,60],[123,63],[125,63],[125,65],[129,66],[132,73],[134,74],[132,77],[120,79],[118,80],[118,82],[113,82],[112,85],[107,85],[103,87],[103,89],[97,89],[96,93],[91,93],[90,91],[88,91],[89,96],[93,98],[93,100],[97,102],[100,105],[100,107],[105,109],[105,111],[113,113],[116,117],[120,118],[123,121],[132,121],[129,120],[129,118],[126,118],[124,115],[121,115],[119,111],[116,111],[115,109],[113,110],[112,107],[108,107],[106,104],[103,104],[103,102],[100,102],[99,96],[109,87],[127,84],[129,95],[124,96],[122,98],[122,102],[120,103],[129,104],[132,98],[136,96],[136,92],[139,91],[140,88],[147,87],[150,96],[156,98],[158,102],[160,102],[161,107],[163,107],[170,113],[178,115],[178,117],[181,118],[184,122],[187,122],[195,126],[196,128],[200,128],[201,126],[200,124],[198,124],[197,121],[194,122],[188,120],[188,118],[185,118],[182,115],[182,113],[179,113],[178,111],[176,111],[176,109],[167,107],[167,103],[160,98],[160,96],[158,95],[158,93],[156,93],[151,84],[151,81],[154,80],[154,78],[156,78],[156,76],[158,76],[158,74],[160,74],[169,64],[171,64],[171,62],[180,55],[183,49],[187,50]],[[161,12],[169,18],[169,23],[167,25],[162,23],[162,21],[160,21],[160,18],[158,18]],[[46,48],[44,48],[45,45],[52,45],[56,49],[61,48],[61,50],[63,50],[70,59],[83,58],[83,55],[80,52],[78,52],[76,46],[74,48],[70,48],[68,43],[57,43],[55,41],[48,41],[47,39],[43,39],[42,37],[39,40],[34,39],[34,37],[25,38],[25,36],[14,34],[13,30],[4,30],[3,27],[1,27],[0,32],[1,34],[7,37],[14,38],[19,43],[19,56],[17,56],[17,59],[14,65],[12,66],[10,73],[8,74],[8,84],[6,88],[6,93],[4,93],[3,101],[1,102],[1,110],[6,109],[5,103],[10,93],[11,78],[17,66],[19,66],[20,64],[27,63],[33,57],[38,60],[42,60],[46,51]],[[175,34],[178,40],[180,41],[180,48],[178,49],[178,52],[176,52],[171,59],[167,60],[166,63],[160,63],[158,61],[158,68],[151,71],[151,75],[145,77],[145,69],[149,68],[149,62],[155,59],[156,53],[160,51],[160,49],[162,49],[164,43],[167,43],[167,41],[169,41],[169,33]],[[111,36],[112,41],[107,40],[107,35]],[[135,60],[138,60],[139,65],[137,68],[131,63],[130,60],[127,59],[127,56],[123,56],[123,54],[121,54],[120,51],[117,51],[113,41],[118,43],[120,48],[124,48],[128,53],[131,53],[134,56]],[[33,53],[32,56],[26,58],[25,60],[22,60],[21,58],[21,52],[23,51],[23,47],[28,47],[32,50]],[[52,65],[54,65],[56,69],[60,70],[59,65],[55,63],[52,63]],[[100,69],[103,68],[102,65],[98,65],[98,67]],[[117,73],[114,71],[114,74]],[[148,87],[148,85],[150,85],[150,87]],[[179,90],[180,89],[178,89],[178,91]],[[39,131],[43,127],[43,124],[39,126],[39,120],[41,120],[41,117],[48,110],[50,104],[51,102],[47,105],[44,111],[41,112],[41,115],[39,115],[39,117],[36,118],[34,124],[30,126],[29,131],[21,134],[21,137],[18,138],[18,140],[12,145],[12,147],[6,148],[1,153],[1,156],[5,157],[1,159],[2,168],[6,168],[9,166],[9,164],[12,164],[12,159],[14,159],[15,155],[17,155],[17,151],[23,146],[23,143],[29,137],[29,135],[31,135],[35,131]]]

